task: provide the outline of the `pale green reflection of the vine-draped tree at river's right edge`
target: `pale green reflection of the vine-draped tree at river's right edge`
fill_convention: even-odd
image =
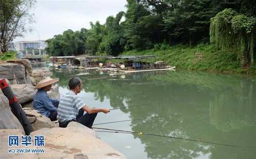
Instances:
[[[239,90],[223,90],[210,100],[210,121],[221,131],[255,126],[256,86],[241,82]]]

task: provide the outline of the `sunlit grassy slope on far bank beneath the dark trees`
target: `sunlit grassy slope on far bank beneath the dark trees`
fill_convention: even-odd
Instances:
[[[211,71],[221,73],[256,74],[256,65],[241,67],[237,60],[239,50],[216,50],[213,45],[157,45],[154,49],[144,51],[127,51],[122,55],[156,55],[157,61],[165,61],[177,69]],[[154,59],[147,59],[148,61]]]

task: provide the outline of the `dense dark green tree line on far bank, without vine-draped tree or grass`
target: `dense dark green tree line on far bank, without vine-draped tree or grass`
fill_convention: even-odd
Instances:
[[[252,19],[256,17],[256,6],[249,0],[127,0],[126,8],[126,12],[107,17],[105,24],[91,22],[89,30],[68,30],[55,35],[47,41],[48,52],[51,55],[119,55],[123,51],[181,43],[192,46],[209,42],[211,18],[226,8],[237,15],[227,22],[228,27],[235,28],[234,34],[244,31],[240,23],[248,25],[246,33],[251,32]],[[229,38],[228,32],[218,36],[226,35]]]

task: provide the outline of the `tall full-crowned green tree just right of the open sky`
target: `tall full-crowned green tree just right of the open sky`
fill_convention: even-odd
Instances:
[[[155,30],[158,24],[157,15],[151,13],[134,0],[127,0],[127,12],[124,22],[124,37],[127,39],[125,49],[148,49],[153,46]]]

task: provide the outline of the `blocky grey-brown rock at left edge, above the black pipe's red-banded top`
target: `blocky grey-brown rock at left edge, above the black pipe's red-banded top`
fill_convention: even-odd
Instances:
[[[26,84],[25,67],[19,64],[1,63],[1,78],[7,78],[10,84]]]

